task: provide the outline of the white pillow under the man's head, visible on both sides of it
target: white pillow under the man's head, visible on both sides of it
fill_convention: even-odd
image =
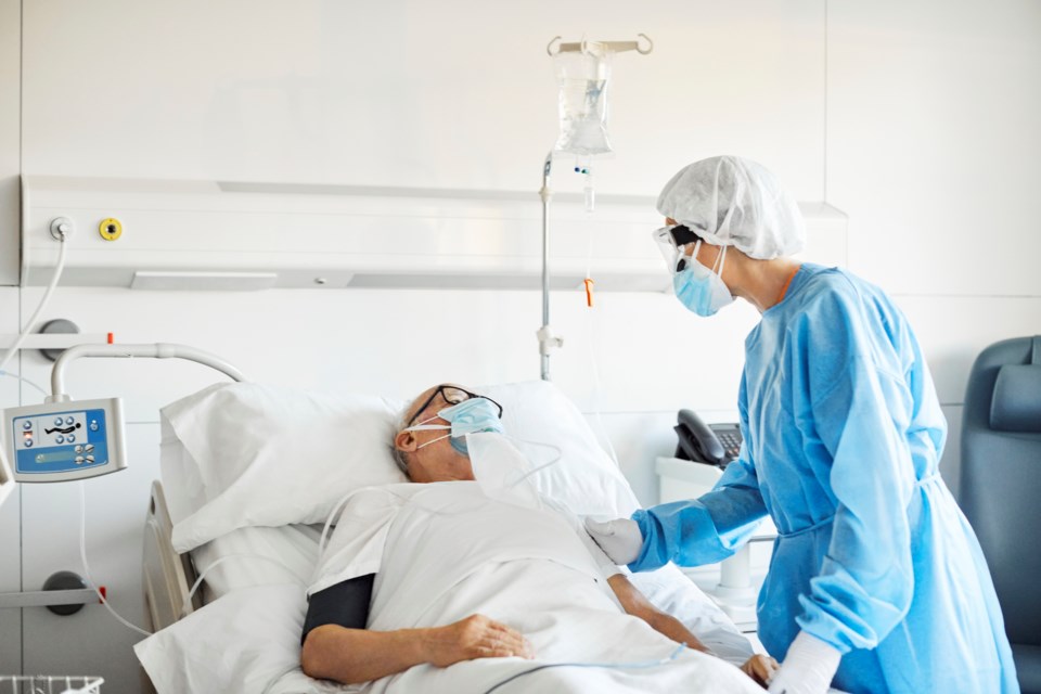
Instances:
[[[561,449],[560,462],[532,477],[539,491],[580,515],[639,507],[586,417],[554,384],[475,390],[503,406],[509,435]],[[390,449],[406,404],[235,383],[163,408],[160,472],[175,549],[242,527],[323,523],[350,491],[406,481]]]

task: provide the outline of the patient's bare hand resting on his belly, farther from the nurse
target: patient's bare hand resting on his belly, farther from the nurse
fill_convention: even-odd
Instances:
[[[474,658],[535,657],[531,644],[519,631],[484,615],[426,630],[424,647],[424,659],[442,668]]]

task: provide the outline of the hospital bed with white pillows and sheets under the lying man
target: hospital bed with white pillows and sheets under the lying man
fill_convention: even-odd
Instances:
[[[539,492],[578,515],[628,515],[637,507],[617,465],[555,386],[532,382],[478,391],[503,404],[507,433],[560,449],[560,461],[532,476]],[[163,479],[152,487],[143,554],[146,615],[155,634],[134,648],[155,691],[408,691],[382,681],[347,687],[299,669],[305,591],[319,562],[323,525],[346,494],[406,481],[389,449],[403,404],[217,384],[164,408]],[[632,580],[721,658],[740,665],[751,655],[751,644],[725,614],[674,567]],[[519,666],[510,667],[503,672]],[[733,668],[686,651],[677,663],[615,679],[603,670],[570,668],[560,682],[540,672],[541,684],[532,676],[496,691],[672,691],[673,684],[679,691],[681,682],[684,691],[702,691],[697,682],[711,691],[722,681],[714,678],[725,679]],[[653,679],[651,670],[671,674]]]

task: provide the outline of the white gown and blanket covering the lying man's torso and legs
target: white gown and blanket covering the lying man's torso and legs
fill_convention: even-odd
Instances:
[[[490,500],[473,483],[360,492],[340,518],[310,592],[370,573],[377,574],[372,629],[437,627],[483,614],[524,633],[536,653],[535,660],[414,667],[373,682],[367,687],[372,694],[762,692],[712,656],[683,650],[669,660],[677,644],[621,611],[566,520],[552,511]],[[565,663],[597,667],[549,667],[511,680]]]

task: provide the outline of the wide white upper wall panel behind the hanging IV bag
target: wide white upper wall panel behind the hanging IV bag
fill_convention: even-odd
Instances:
[[[823,9],[27,3],[25,170],[535,191],[557,126],[547,44],[642,31],[654,52],[615,61],[602,192],[657,194],[679,167],[733,152],[820,200]]]

